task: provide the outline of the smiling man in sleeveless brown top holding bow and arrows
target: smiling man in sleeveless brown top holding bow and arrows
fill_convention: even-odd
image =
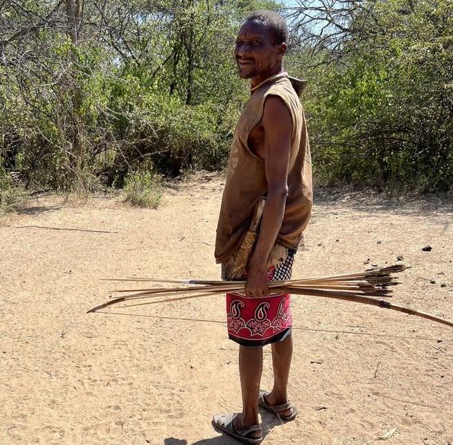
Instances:
[[[293,87],[300,81],[283,72],[288,30],[271,11],[253,12],[242,24],[234,55],[251,96],[233,138],[227,182],[217,226],[215,257],[224,268],[234,260],[262,197],[265,206],[258,240],[249,257],[245,296],[227,294],[229,338],[240,344],[242,412],[216,415],[213,426],[240,442],[263,439],[258,403],[292,420],[287,399],[292,357],[290,296],[268,296],[268,280],[291,276],[312,207],[311,158],[303,109]],[[299,85],[297,84],[299,82]],[[263,345],[272,345],[274,388],[260,394]]]

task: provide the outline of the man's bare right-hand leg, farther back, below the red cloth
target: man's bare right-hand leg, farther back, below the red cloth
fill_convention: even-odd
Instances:
[[[266,396],[269,406],[283,405],[288,401],[287,386],[292,358],[292,335],[283,341],[272,343],[272,365],[274,367],[274,388]],[[292,408],[281,411],[285,416],[292,415]]]

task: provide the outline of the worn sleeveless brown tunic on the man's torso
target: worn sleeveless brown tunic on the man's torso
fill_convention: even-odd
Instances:
[[[299,97],[287,76],[269,80],[254,93],[243,109],[231,145],[215,240],[215,259],[225,262],[239,248],[249,228],[254,207],[267,194],[265,163],[247,145],[258,125],[267,96],[280,97],[292,117],[288,196],[276,242],[297,249],[312,209],[312,163],[305,116]]]

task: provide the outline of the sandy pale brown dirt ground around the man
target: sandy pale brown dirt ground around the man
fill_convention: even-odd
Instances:
[[[211,427],[213,414],[240,409],[222,296],[86,314],[124,287],[99,278],[218,278],[222,185],[186,181],[158,210],[38,197],[0,219],[0,444],[236,443]],[[453,319],[451,197],[320,192],[293,277],[397,255],[412,268],[393,301]],[[300,414],[281,424],[262,412],[265,444],[453,443],[452,329],[321,298],[292,307]],[[261,386],[271,385],[267,347]]]

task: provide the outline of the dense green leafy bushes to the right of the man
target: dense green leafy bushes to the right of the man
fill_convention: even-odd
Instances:
[[[309,69],[320,183],[451,187],[452,17],[449,1],[363,2],[341,60]]]

